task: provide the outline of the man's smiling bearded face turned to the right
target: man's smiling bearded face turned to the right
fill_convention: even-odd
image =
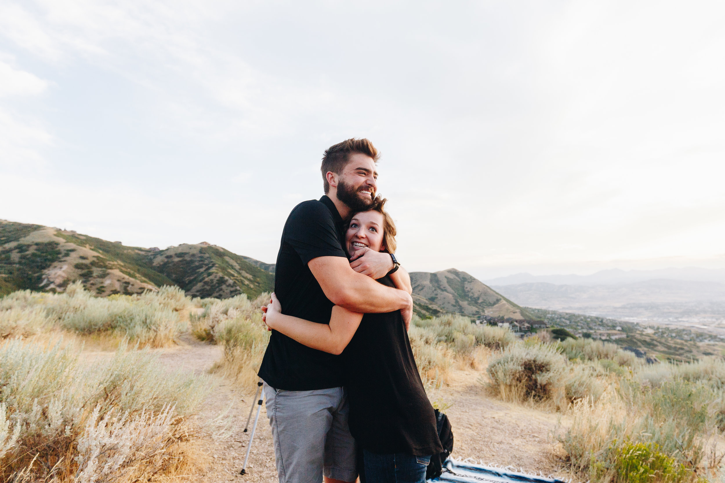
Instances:
[[[349,155],[339,175],[337,198],[352,210],[366,209],[373,204],[378,188],[375,161],[361,153]]]

